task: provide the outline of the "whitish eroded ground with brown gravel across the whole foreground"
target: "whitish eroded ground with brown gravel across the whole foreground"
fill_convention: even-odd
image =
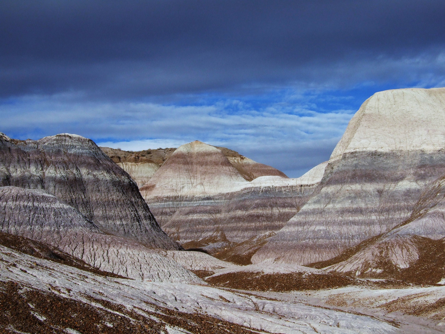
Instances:
[[[0,246],[5,333],[439,333],[445,287],[252,292],[104,277]]]

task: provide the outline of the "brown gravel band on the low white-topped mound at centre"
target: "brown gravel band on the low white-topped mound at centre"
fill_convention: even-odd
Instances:
[[[206,279],[206,282],[211,285],[232,289],[285,292],[339,288],[353,284],[355,280],[333,274],[237,272],[209,277]]]

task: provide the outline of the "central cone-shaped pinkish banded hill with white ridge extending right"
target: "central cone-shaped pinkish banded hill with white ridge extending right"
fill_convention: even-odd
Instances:
[[[282,228],[316,189],[324,165],[317,168],[304,183],[279,175],[247,182],[223,151],[193,142],[170,155],[140,190],[169,236],[215,254]]]

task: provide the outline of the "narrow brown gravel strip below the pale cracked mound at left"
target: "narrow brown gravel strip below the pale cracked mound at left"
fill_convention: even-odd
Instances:
[[[128,277],[124,277],[121,275],[117,275],[114,273],[109,273],[106,271],[99,270],[94,268],[82,260],[77,259],[69,255],[68,253],[62,252],[60,249],[56,247],[49,246],[47,244],[34,241],[32,239],[26,238],[24,236],[15,236],[9,233],[0,232],[0,244],[19,251],[21,253],[25,253],[31,255],[33,257],[37,257],[39,259],[45,259],[57,263],[61,263],[63,265],[69,265],[71,267],[75,267],[77,269],[85,270],[90,273],[94,273],[96,275],[105,276],[105,277],[113,277],[113,278],[125,278],[131,279]]]

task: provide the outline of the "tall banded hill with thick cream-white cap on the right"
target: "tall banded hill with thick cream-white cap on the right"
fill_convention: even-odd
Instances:
[[[349,122],[316,196],[252,261],[325,261],[387,232],[445,175],[444,148],[444,88],[374,94]]]

